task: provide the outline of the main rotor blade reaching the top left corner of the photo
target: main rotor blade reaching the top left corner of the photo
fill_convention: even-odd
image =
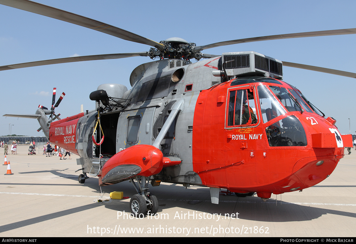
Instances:
[[[72,14],[70,12],[56,9],[54,7],[50,7],[47,5],[39,4],[37,2],[32,2],[28,0],[0,0],[0,4],[15,7],[16,9],[22,9],[28,12],[33,12],[35,14],[44,15],[47,17],[51,17],[57,20],[63,20],[75,25],[84,26],[95,31],[104,32],[111,36],[116,36],[121,39],[138,42],[142,44],[146,44],[152,47],[156,47],[158,49],[163,49],[164,45],[161,43],[152,41],[145,37],[139,36],[135,33],[123,30],[121,28],[105,24],[100,21],[96,21],[93,19],[89,19],[84,16],[80,16],[77,14]]]

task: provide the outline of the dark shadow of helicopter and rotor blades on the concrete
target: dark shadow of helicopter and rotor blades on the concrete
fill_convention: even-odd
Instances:
[[[105,196],[109,197],[108,194],[112,191],[123,191],[124,196],[133,196],[137,194],[134,190],[132,183],[129,181],[121,182],[116,185],[105,186],[101,188],[98,185],[98,180],[96,177],[86,179],[84,184],[78,183],[78,176],[63,173],[65,170],[46,170],[46,171],[33,171],[33,172],[22,172],[22,173],[42,173],[51,172],[58,177],[65,177],[71,180],[77,181],[77,184],[31,184],[31,183],[12,183],[12,185],[76,185],[78,187],[88,187],[93,189],[92,192],[95,193],[106,193]],[[8,185],[6,183],[0,183],[0,185]],[[332,186],[338,187],[338,186]],[[345,186],[342,186],[345,187]],[[354,186],[350,186],[354,187]],[[336,214],[339,216],[346,217],[356,217],[356,213],[337,211],[332,209],[325,209],[319,207],[303,206],[294,203],[288,203],[283,201],[277,201],[270,199],[267,202],[262,202],[262,200],[255,196],[250,197],[236,197],[231,195],[220,195],[219,204],[212,204],[210,202],[209,188],[198,187],[198,188],[185,188],[181,185],[171,184],[171,185],[161,185],[159,187],[151,187],[150,192],[154,193],[158,198],[158,215],[163,215],[164,209],[172,209],[174,207],[179,207],[185,209],[185,211],[179,211],[179,213],[173,213],[174,215],[169,216],[169,218],[174,218],[178,214],[178,219],[181,214],[190,214],[190,219],[193,219],[192,214],[205,213],[206,218],[209,216],[212,218],[215,215],[221,216],[220,218],[228,219],[228,216],[235,214],[240,219],[261,221],[261,222],[291,222],[291,221],[307,221],[321,217],[324,214]],[[124,199],[122,199],[124,200]],[[113,211],[125,211],[129,212],[129,202],[115,200],[113,199],[110,203],[92,203],[84,205],[81,207],[75,207],[67,209],[64,211],[59,211],[56,213],[46,214],[36,218],[30,218],[22,220],[19,222],[6,224],[0,226],[0,233],[6,232],[7,230],[12,230],[27,225],[43,222],[46,220],[54,219],[57,217],[66,216],[72,213],[78,213],[88,209],[94,209],[96,207],[104,204],[105,208]],[[330,204],[333,205],[333,204]],[[336,204],[335,204],[336,205]],[[328,206],[328,205],[324,205]],[[196,212],[197,211],[197,212]],[[169,212],[169,211],[164,211]],[[238,213],[238,215],[237,215]],[[209,215],[210,214],[210,215]],[[226,217],[225,217],[226,216]],[[153,217],[154,218],[154,217]],[[177,219],[175,218],[175,219]],[[195,218],[197,219],[197,218]]]

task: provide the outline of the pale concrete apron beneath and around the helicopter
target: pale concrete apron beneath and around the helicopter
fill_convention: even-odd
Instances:
[[[77,155],[59,160],[27,152],[28,146],[19,146],[17,155],[7,155],[13,175],[4,175],[7,166],[0,166],[2,237],[356,236],[354,149],[325,181],[302,192],[272,195],[267,202],[256,195],[227,195],[216,205],[209,188],[162,183],[150,188],[158,198],[158,214],[142,219],[130,216],[130,199],[97,202],[113,191],[132,197],[130,182],[100,188],[98,178],[90,176],[79,184]]]

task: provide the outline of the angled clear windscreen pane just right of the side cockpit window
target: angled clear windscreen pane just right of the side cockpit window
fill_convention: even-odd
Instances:
[[[257,91],[263,123],[267,123],[269,120],[286,113],[286,110],[265,85],[259,85]]]

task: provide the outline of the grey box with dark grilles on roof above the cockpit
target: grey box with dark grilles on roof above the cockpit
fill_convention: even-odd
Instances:
[[[282,61],[267,57],[261,53],[248,52],[225,52],[223,62],[227,75],[230,77],[266,76],[283,79]]]

